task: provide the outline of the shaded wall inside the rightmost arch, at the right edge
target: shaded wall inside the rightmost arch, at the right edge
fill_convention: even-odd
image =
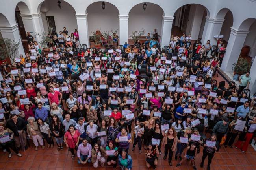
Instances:
[[[250,46],[250,57],[254,57],[256,55],[256,22],[250,26],[249,33],[245,39],[244,45]]]

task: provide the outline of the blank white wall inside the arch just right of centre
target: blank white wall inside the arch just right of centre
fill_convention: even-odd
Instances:
[[[129,13],[128,38],[132,31],[145,29],[145,35],[152,33],[156,28],[161,35],[163,10],[156,4],[147,3],[147,9],[143,10],[143,4],[134,6]],[[171,30],[170,30],[171,31]]]

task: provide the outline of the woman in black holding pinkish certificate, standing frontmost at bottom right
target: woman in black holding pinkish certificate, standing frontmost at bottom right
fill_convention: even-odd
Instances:
[[[209,147],[206,145],[207,141],[215,141],[215,146]],[[213,159],[215,151],[219,151],[219,142],[217,141],[217,135],[215,133],[211,134],[211,138],[206,139],[204,141],[204,150],[203,150],[203,156],[202,156],[202,162],[200,164],[201,168],[204,166],[204,160],[208,156],[208,165],[207,165],[207,170],[210,170],[210,164],[211,160]]]

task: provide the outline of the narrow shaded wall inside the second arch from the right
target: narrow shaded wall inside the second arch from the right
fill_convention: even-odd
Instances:
[[[232,27],[232,25],[233,25],[233,15],[231,11],[228,11],[224,18],[224,22],[221,27],[221,33],[220,33],[220,35],[224,35],[223,39],[226,40],[227,42],[231,32],[230,27]]]

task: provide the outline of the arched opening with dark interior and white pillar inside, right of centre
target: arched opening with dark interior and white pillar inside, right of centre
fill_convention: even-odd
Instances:
[[[206,7],[200,4],[187,4],[183,5],[174,13],[174,21],[172,27],[172,35],[182,33],[191,35],[192,40],[202,38],[206,16],[210,13]]]

